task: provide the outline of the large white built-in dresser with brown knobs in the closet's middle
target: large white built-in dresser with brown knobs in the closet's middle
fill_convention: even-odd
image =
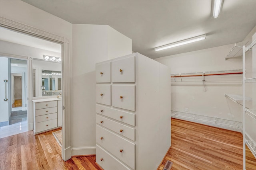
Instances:
[[[170,69],[134,53],[96,64],[96,162],[156,170],[170,148]]]

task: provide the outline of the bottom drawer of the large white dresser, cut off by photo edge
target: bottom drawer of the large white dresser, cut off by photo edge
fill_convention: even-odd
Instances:
[[[131,170],[98,145],[96,145],[96,162],[104,170]]]

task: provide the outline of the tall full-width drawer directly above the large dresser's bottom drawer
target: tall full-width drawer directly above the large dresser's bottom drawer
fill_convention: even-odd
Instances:
[[[102,139],[101,139],[102,138]],[[132,169],[135,169],[135,144],[96,125],[96,143],[104,147]],[[122,151],[122,152],[121,152]]]

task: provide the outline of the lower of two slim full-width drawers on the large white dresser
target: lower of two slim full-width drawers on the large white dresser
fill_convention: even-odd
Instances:
[[[100,115],[96,115],[96,123],[120,134],[124,137],[127,137],[133,141],[135,141],[135,129],[118,123],[116,121],[112,121]]]

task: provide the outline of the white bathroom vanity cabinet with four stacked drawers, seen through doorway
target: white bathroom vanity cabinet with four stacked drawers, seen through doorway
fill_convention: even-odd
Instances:
[[[34,134],[62,126],[61,98],[33,100]]]

